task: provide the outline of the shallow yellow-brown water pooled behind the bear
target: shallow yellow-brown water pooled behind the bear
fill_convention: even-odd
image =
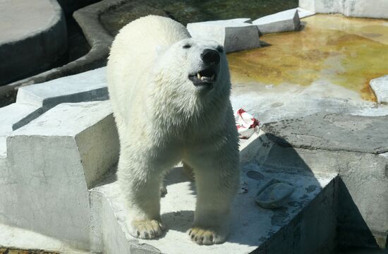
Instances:
[[[388,20],[316,15],[302,21],[299,32],[262,36],[268,47],[229,54],[232,83],[327,80],[375,100],[368,84],[388,74]]]

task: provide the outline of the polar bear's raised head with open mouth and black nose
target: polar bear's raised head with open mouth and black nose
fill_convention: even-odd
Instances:
[[[188,38],[158,51],[154,72],[164,94],[187,99],[229,97],[229,68],[222,45]]]

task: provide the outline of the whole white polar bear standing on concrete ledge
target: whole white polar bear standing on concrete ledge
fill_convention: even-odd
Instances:
[[[223,47],[191,38],[170,18],[146,16],[116,36],[107,76],[130,234],[162,236],[159,188],[164,172],[183,161],[193,169],[197,189],[190,238],[205,245],[224,242],[239,155]]]

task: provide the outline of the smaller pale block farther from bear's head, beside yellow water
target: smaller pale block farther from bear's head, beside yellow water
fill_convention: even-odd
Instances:
[[[257,28],[262,34],[267,34],[298,30],[299,25],[301,25],[301,20],[299,20],[298,10],[291,9],[258,18],[257,20],[253,20],[252,23],[253,25],[257,25]]]

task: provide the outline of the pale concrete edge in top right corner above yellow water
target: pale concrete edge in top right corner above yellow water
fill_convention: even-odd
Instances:
[[[299,6],[315,13],[342,13],[349,17],[388,18],[385,0],[299,0]]]

